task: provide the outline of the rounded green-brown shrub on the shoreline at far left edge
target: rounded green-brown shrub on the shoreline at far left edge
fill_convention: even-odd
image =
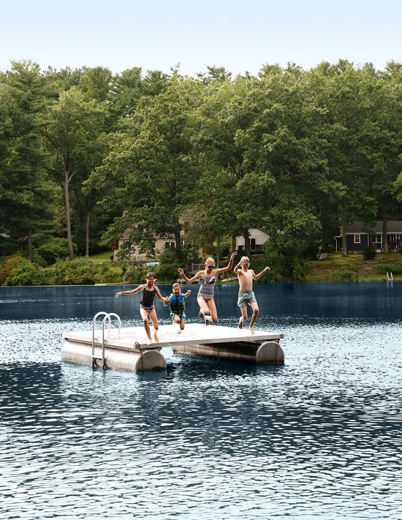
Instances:
[[[42,267],[33,264],[22,256],[10,256],[0,270],[3,285],[42,285],[45,273]]]

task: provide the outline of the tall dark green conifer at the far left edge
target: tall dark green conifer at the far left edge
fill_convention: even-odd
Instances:
[[[7,208],[3,229],[28,245],[33,258],[37,233],[52,227],[53,184],[49,180],[50,157],[42,147],[42,120],[46,88],[38,64],[11,62],[7,83],[0,92],[3,141],[2,206]]]

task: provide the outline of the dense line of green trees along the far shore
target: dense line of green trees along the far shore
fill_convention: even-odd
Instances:
[[[185,254],[239,235],[249,254],[253,227],[278,264],[300,260],[348,222],[382,220],[386,233],[402,217],[401,163],[397,62],[193,78],[27,60],[0,72],[0,232],[31,261],[54,237],[73,259],[74,244],[88,255],[123,234],[127,254],[152,252],[157,233],[180,255],[181,229]]]

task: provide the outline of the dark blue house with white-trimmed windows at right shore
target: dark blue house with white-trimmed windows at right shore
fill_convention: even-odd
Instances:
[[[345,227],[347,251],[362,252],[374,249],[378,253],[383,251],[382,220],[374,225],[363,222],[354,222]],[[402,247],[402,220],[387,221],[388,251],[397,252]],[[342,232],[335,237],[335,251],[342,251]]]

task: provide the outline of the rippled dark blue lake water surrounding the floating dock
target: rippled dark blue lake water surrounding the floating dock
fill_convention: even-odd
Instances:
[[[99,310],[140,325],[116,290],[0,288],[0,518],[402,518],[401,283],[256,284],[284,365],[61,361]],[[219,323],[237,290],[216,288]]]

